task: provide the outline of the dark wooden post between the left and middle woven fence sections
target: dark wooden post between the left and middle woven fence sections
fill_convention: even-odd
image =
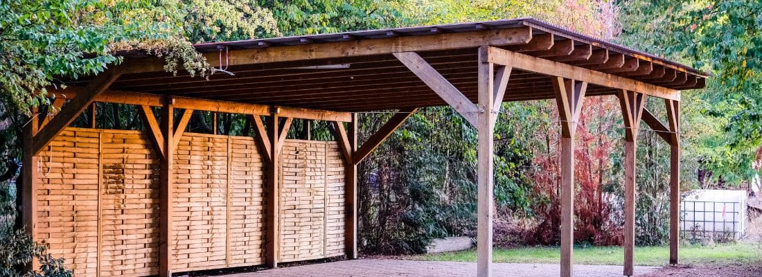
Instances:
[[[158,274],[162,277],[172,275],[172,201],[174,183],[174,98],[167,98],[162,106],[160,123],[164,155],[161,171],[159,172],[159,237],[158,237]],[[152,116],[149,114],[149,116]]]

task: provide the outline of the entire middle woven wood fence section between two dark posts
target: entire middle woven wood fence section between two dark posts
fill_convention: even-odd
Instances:
[[[186,133],[174,157],[176,271],[264,263],[264,180],[254,139]]]

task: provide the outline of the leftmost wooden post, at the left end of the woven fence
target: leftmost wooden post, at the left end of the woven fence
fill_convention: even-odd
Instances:
[[[23,146],[23,161],[21,170],[24,179],[21,180],[21,187],[17,188],[21,191],[17,195],[21,194],[21,222],[24,224],[24,231],[29,234],[32,240],[37,239],[35,236],[35,228],[37,224],[37,188],[40,186],[40,173],[38,171],[40,158],[34,156],[33,139],[34,135],[38,131],[38,115],[35,109],[32,113],[32,118],[27,126],[24,126],[24,146]],[[25,269],[37,269],[40,263],[37,259],[32,259],[32,263],[25,266]]]

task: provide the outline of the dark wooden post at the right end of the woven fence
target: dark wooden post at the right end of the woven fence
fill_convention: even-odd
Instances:
[[[341,123],[338,123],[341,124]],[[357,113],[352,113],[352,121],[347,128],[347,140],[352,155],[344,158],[344,184],[346,195],[346,241],[347,259],[357,259],[357,164],[354,163],[354,153],[357,152]]]

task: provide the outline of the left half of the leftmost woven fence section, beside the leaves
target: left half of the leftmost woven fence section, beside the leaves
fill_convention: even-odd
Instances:
[[[66,259],[74,275],[98,271],[98,147],[100,132],[65,129],[38,155],[38,240]]]

